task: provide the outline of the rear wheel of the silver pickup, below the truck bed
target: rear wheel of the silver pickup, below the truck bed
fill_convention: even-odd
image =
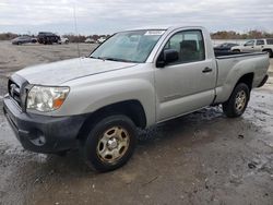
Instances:
[[[249,98],[249,87],[245,83],[239,83],[234,88],[229,99],[222,105],[224,113],[228,118],[240,117],[248,106]]]

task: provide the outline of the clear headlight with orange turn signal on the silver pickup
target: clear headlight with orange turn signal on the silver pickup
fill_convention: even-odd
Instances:
[[[33,86],[27,94],[26,108],[37,111],[54,111],[61,107],[69,87]]]

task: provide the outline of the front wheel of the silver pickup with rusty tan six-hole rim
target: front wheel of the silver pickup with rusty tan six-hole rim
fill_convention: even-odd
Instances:
[[[136,131],[132,120],[115,114],[94,124],[83,144],[83,157],[90,168],[111,171],[131,158],[135,145]]]

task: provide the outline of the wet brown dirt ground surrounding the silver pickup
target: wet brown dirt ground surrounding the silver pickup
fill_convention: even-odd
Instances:
[[[0,107],[14,71],[79,56],[74,44],[1,41],[0,48]],[[93,48],[80,45],[81,56]],[[78,152],[59,157],[24,150],[0,109],[0,204],[272,205],[272,108],[271,79],[251,93],[241,118],[206,108],[141,132],[132,159],[108,173],[88,170]]]

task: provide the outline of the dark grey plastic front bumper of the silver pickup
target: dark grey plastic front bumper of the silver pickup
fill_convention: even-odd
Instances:
[[[78,135],[86,114],[49,117],[22,112],[9,95],[4,97],[3,111],[25,149],[49,154],[79,147]]]

